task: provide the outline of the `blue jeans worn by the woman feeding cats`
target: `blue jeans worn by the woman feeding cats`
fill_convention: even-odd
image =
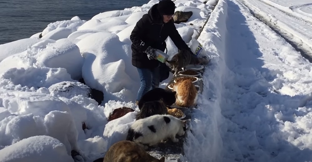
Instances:
[[[154,69],[137,68],[141,79],[141,86],[137,95],[137,101],[153,88],[159,87],[160,71],[159,66]]]

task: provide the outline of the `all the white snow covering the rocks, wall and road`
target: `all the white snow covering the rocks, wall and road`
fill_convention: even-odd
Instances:
[[[311,63],[260,21],[312,51],[310,1],[202,2],[174,1],[176,11],[193,12],[175,24],[188,44],[209,17],[197,41],[210,63],[180,159],[311,161]],[[92,162],[125,140],[140,86],[129,36],[155,3],[52,22],[41,39],[36,33],[0,45],[0,161]],[[178,49],[169,37],[166,43],[172,57]],[[92,89],[104,93],[100,105]],[[135,111],[109,122],[121,107]]]

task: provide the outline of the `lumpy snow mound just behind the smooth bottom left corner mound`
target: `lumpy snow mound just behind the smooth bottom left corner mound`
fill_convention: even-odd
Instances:
[[[0,145],[48,135],[60,140],[69,155],[71,150],[78,150],[76,125],[66,103],[38,92],[13,91],[0,97],[3,107],[11,114],[0,122]]]

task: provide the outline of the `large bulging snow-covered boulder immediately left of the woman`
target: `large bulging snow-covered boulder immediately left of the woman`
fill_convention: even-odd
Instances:
[[[131,62],[125,62],[129,60],[125,51],[129,45],[120,42],[117,35],[99,32],[83,38],[77,45],[85,58],[82,76],[91,88],[116,93],[133,86],[129,76],[135,71]]]

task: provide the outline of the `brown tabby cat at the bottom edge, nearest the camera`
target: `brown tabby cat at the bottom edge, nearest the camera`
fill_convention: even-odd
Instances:
[[[110,146],[103,162],[165,162],[165,158],[154,158],[132,141],[119,141]]]

